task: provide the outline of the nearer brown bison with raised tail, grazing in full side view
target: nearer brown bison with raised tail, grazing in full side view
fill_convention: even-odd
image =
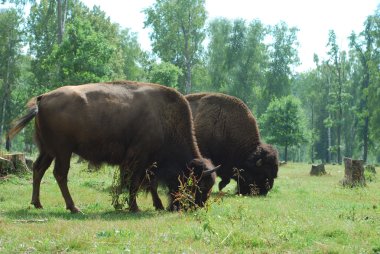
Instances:
[[[12,138],[35,117],[39,156],[33,165],[32,204],[40,203],[41,179],[55,159],[54,176],[66,208],[78,212],[67,186],[72,153],[94,163],[119,165],[126,172],[129,209],[138,211],[136,194],[153,164],[148,188],[157,209],[163,209],[157,183],[166,185],[170,208],[179,177],[193,170],[199,180],[195,203],[202,206],[215,182],[216,170],[199,152],[186,99],[174,89],[131,81],[65,86],[33,98],[29,112],[10,130]]]

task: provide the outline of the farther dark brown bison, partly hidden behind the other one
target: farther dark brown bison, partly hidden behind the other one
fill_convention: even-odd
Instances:
[[[277,150],[260,141],[256,120],[238,98],[219,93],[186,96],[202,155],[221,164],[219,190],[230,179],[243,195],[266,195],[278,172]]]

